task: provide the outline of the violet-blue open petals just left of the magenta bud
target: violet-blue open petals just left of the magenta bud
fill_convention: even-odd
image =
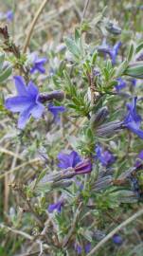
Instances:
[[[72,151],[69,155],[59,153],[58,159],[59,159],[58,167],[62,169],[67,169],[69,167],[74,168],[81,161],[80,155],[75,151]]]

